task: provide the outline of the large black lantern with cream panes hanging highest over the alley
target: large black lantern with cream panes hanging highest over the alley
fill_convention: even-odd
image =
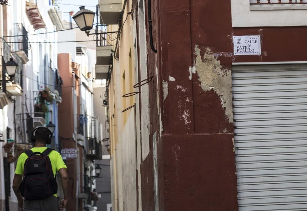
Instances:
[[[90,30],[93,28],[95,12],[85,9],[84,6],[79,7],[80,10],[72,17],[81,31],[89,35]]]

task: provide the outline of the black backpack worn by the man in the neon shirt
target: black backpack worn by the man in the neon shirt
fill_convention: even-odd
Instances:
[[[47,148],[43,153],[33,153],[30,149],[25,151],[28,158],[25,160],[23,180],[19,187],[25,200],[49,198],[57,193],[56,178],[48,157],[52,150]]]

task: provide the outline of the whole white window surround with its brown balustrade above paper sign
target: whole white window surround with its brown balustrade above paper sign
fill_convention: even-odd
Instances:
[[[307,0],[231,0],[232,27],[306,26],[305,9]]]

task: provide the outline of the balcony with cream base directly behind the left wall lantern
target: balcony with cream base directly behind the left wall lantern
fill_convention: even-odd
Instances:
[[[14,61],[18,64],[18,68],[15,73],[14,81],[6,82],[6,92],[10,96],[22,95],[22,59],[16,52],[13,53]]]

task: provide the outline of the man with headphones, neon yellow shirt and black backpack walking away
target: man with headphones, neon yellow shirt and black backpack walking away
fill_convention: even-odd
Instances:
[[[23,211],[63,210],[68,202],[68,175],[60,153],[46,147],[52,133],[46,127],[32,132],[31,150],[22,153],[17,161],[13,190]],[[51,168],[50,168],[51,167]],[[58,205],[56,172],[61,175],[64,199]],[[23,176],[22,176],[23,175]]]

